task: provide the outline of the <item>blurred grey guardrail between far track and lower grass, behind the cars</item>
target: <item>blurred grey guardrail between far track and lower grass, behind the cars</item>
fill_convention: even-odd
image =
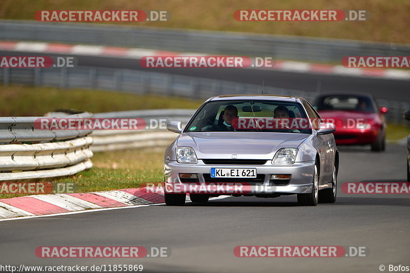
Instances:
[[[216,95],[258,94],[260,92],[258,85],[227,80],[95,67],[77,67],[75,70],[6,68],[3,69],[3,73],[0,73],[0,82],[4,85],[24,83],[34,86],[102,89],[139,95],[155,94],[203,100]],[[308,100],[312,100],[315,96],[314,92],[275,87],[264,87],[263,92],[264,94],[301,96]],[[385,99],[377,99],[377,101],[380,106],[389,108],[389,113],[386,115],[388,122],[408,125],[408,122],[403,119],[403,112],[410,109],[410,103]],[[3,131],[0,126],[0,132]]]

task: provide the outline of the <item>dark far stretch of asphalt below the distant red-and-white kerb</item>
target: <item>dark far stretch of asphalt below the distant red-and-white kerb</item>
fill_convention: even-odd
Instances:
[[[0,56],[44,56],[39,53],[20,53],[15,51],[0,51]],[[252,70],[252,69],[235,69],[235,68],[142,68],[138,60],[101,57],[101,56],[84,56],[84,55],[64,55],[64,54],[47,54],[48,56],[75,56],[78,60],[78,66],[122,68],[144,71],[155,71],[162,73],[171,73],[177,75],[186,75],[194,77],[204,77],[219,80],[229,80],[254,85],[262,85],[263,79],[265,86],[288,88],[302,90],[307,92],[316,92],[318,81],[320,81],[321,92],[367,92],[373,94],[376,98],[391,99],[410,102],[410,81],[393,80],[380,78],[362,78],[351,76],[334,76],[324,74],[309,74],[296,72],[282,72],[274,70]]]

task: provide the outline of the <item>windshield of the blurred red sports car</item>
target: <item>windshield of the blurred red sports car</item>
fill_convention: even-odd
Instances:
[[[374,112],[372,100],[368,97],[337,95],[319,97],[315,103],[315,109]]]

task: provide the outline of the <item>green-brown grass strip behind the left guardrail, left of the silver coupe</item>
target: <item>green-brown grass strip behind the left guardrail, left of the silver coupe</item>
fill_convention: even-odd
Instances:
[[[203,101],[180,97],[134,95],[87,89],[1,86],[0,116],[43,116],[49,111],[72,108],[91,113],[140,109],[197,109]]]

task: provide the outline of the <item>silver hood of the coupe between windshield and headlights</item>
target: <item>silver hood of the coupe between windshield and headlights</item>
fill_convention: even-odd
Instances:
[[[178,146],[195,149],[198,159],[272,159],[280,148],[296,148],[309,134],[267,132],[182,133]]]

